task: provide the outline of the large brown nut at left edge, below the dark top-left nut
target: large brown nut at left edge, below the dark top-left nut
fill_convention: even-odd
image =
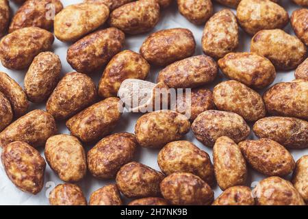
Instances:
[[[5,68],[21,70],[30,66],[34,57],[49,51],[53,34],[39,27],[25,27],[8,34],[0,41],[0,59]]]

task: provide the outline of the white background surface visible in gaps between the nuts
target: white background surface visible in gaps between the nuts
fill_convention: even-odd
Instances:
[[[73,3],[79,3],[79,2],[81,2],[81,0],[62,1],[64,6],[70,5]],[[12,3],[12,1],[10,1],[10,5],[13,11],[16,12],[16,8],[17,8],[16,5]],[[299,6],[295,5],[291,0],[281,0],[281,5],[283,5],[283,8],[285,8],[285,10],[289,12],[289,15],[291,15],[291,13],[296,8],[299,8]],[[219,5],[218,3],[214,2],[215,12],[218,12],[222,8],[224,8],[222,5]],[[233,12],[235,12],[235,10],[233,10]],[[173,3],[169,8],[162,11],[162,15],[161,15],[159,23],[157,24],[155,29],[153,29],[153,31],[151,32],[159,31],[161,29],[169,29],[173,27],[184,27],[184,28],[190,29],[193,32],[194,37],[196,39],[196,43],[197,43],[195,55],[203,54],[202,47],[201,47],[201,37],[202,37],[204,25],[196,26],[190,23],[189,21],[187,21],[185,18],[183,18],[183,16],[181,16],[177,10],[176,3]],[[285,31],[289,34],[294,35],[294,32],[292,31],[290,24],[287,25],[287,27],[285,27]],[[131,49],[133,51],[138,52],[142,42],[148,35],[149,34],[144,34],[140,36],[127,36],[124,49]],[[240,29],[240,46],[238,47],[238,51],[249,51],[250,41],[251,41],[251,36],[248,36],[248,34],[245,34]],[[53,52],[59,55],[62,61],[62,75],[73,71],[70,65],[66,62],[66,50],[68,46],[69,44],[60,42],[57,39],[55,39],[55,42],[53,44]],[[159,70],[160,70],[159,68],[152,68],[151,74],[149,75],[147,80],[155,81]],[[21,86],[23,86],[23,79],[25,77],[26,70],[23,70],[23,71],[8,70],[0,64],[0,71],[8,73],[10,77],[15,79],[19,84],[21,84]],[[94,79],[96,83],[98,83],[101,77],[101,72],[95,73],[91,75],[91,77]],[[292,79],[294,79],[294,70],[290,72],[279,72],[277,74],[277,78],[275,79],[274,83],[278,83],[281,81],[292,81]],[[209,86],[209,88],[213,88],[217,83],[219,83],[222,80],[225,80],[225,78],[222,76],[222,73],[220,73],[218,79],[216,79],[216,81],[211,86]],[[28,112],[34,109],[44,110],[44,108],[45,108],[45,103],[40,104],[40,105],[31,104],[31,106],[28,109]],[[123,117],[121,118],[120,123],[118,124],[114,133],[121,132],[121,131],[127,131],[127,132],[133,133],[136,120],[140,116],[141,114],[128,114],[128,113],[123,114]],[[69,133],[64,123],[61,123],[61,124],[57,123],[57,127],[58,127],[59,133]],[[249,138],[252,138],[252,139],[255,138],[255,136],[253,136],[253,133],[251,133],[251,136]],[[184,139],[194,142],[194,144],[196,144],[200,149],[203,149],[204,151],[209,153],[209,155],[212,157],[212,149],[209,149],[203,146],[201,142],[198,142],[194,138],[192,132],[188,133],[188,135],[186,135]],[[86,151],[88,151],[92,146],[94,145],[85,145]],[[44,149],[41,148],[40,152],[43,155]],[[149,149],[140,148],[138,149],[138,153],[136,154],[135,160],[138,162],[141,162],[142,164],[151,166],[152,168],[155,168],[156,170],[159,170],[159,167],[157,165],[157,153],[158,152],[159,150],[149,150]],[[292,152],[292,155],[294,156],[294,159],[297,160],[302,155],[307,155],[308,149],[300,150],[300,151],[293,150],[291,152]],[[265,177],[264,175],[260,175],[254,170],[249,169],[247,185],[254,186],[255,183],[257,183],[257,181],[264,179],[264,177]],[[57,175],[51,170],[51,168],[49,168],[48,164],[47,164],[47,169],[45,173],[44,183],[45,183],[45,186],[43,190],[36,196],[21,192],[21,190],[18,190],[15,187],[15,185],[5,175],[3,166],[2,164],[0,164],[0,205],[49,205],[47,194],[49,194],[49,192],[55,185],[59,183],[63,183],[63,182],[57,177]],[[103,181],[103,180],[94,179],[94,177],[92,177],[90,173],[88,172],[85,179],[83,179],[77,184],[81,186],[87,200],[89,200],[90,194],[94,192],[94,190],[101,188],[103,185],[106,185],[107,183],[114,183],[114,181]],[[214,192],[215,192],[215,197],[217,197],[221,193],[221,190],[218,188],[217,185],[214,188]],[[127,203],[128,200],[126,198],[124,198],[124,200],[125,200],[125,203]]]

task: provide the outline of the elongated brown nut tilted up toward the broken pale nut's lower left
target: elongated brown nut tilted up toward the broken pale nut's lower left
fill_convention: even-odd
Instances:
[[[66,122],[72,136],[82,142],[94,142],[110,134],[122,115],[120,99],[110,97],[86,108]]]

